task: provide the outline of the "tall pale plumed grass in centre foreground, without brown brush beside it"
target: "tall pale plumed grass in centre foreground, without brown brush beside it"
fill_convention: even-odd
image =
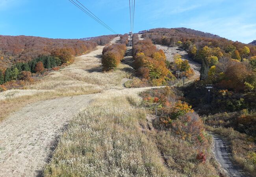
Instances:
[[[129,90],[96,98],[70,122],[45,176],[170,176],[156,144],[141,132],[146,113],[139,103]]]

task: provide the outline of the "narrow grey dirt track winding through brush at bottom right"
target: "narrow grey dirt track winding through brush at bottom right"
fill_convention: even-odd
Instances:
[[[224,170],[230,175],[230,177],[245,177],[246,175],[241,173],[239,167],[234,165],[230,160],[230,153],[228,152],[228,146],[226,142],[217,135],[212,135],[214,139],[214,155],[217,161],[221,164]]]

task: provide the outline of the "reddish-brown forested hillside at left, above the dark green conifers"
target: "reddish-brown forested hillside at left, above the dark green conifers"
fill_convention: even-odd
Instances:
[[[78,39],[49,39],[33,36],[0,35],[0,69],[17,62],[28,62],[39,55],[50,55],[54,50],[65,49],[72,55],[92,51],[97,45],[105,45],[115,35],[96,37],[89,41]]]

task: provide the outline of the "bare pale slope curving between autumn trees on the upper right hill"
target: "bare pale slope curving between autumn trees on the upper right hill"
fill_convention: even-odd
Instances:
[[[165,52],[167,60],[171,62],[174,61],[173,57],[175,54],[180,54],[182,56],[182,59],[186,59],[189,61],[190,67],[194,70],[195,76],[193,79],[197,79],[200,77],[201,64],[193,61],[185,50],[178,47],[168,47],[162,45],[156,45],[156,47],[163,50]]]

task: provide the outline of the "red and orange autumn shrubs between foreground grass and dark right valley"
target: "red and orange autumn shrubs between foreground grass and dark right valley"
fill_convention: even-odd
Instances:
[[[152,89],[141,93],[143,106],[158,110],[158,120],[154,122],[159,131],[169,131],[171,135],[193,144],[197,148],[195,160],[205,163],[210,143],[206,138],[204,123],[186,102],[180,101],[178,90],[170,87]]]

